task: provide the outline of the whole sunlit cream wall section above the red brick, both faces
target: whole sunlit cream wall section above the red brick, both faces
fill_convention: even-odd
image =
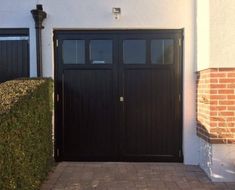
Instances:
[[[235,67],[235,1],[197,0],[197,70]]]

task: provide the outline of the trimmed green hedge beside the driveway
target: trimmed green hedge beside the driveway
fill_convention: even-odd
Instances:
[[[35,190],[53,164],[51,79],[0,84],[0,189]]]

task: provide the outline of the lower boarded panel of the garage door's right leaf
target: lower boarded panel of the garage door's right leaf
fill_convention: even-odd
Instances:
[[[125,156],[174,156],[172,70],[126,70]]]

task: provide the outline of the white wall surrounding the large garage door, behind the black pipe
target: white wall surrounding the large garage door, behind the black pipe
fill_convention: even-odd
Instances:
[[[1,2],[2,1],[2,2]],[[54,29],[185,29],[184,41],[184,130],[186,164],[199,163],[195,123],[195,2],[194,0],[0,0],[0,27],[30,27],[31,76],[36,74],[34,23],[30,10],[43,4],[48,17],[43,30],[43,73],[54,76]],[[112,7],[121,7],[120,20]],[[3,20],[3,21],[2,21]]]

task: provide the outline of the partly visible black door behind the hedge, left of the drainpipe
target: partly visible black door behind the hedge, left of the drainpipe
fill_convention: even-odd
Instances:
[[[0,83],[29,77],[29,30],[0,29]]]

